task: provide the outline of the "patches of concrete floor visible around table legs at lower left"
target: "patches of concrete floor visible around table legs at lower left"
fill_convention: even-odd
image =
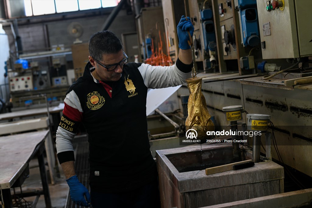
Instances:
[[[46,166],[47,169],[47,166]],[[49,180],[48,180],[49,181]],[[29,163],[29,178],[22,184],[22,191],[42,190],[40,171],[37,158],[32,159]],[[20,191],[16,188],[16,191]],[[55,184],[49,183],[49,191],[51,197],[51,204],[53,208],[64,208],[66,206],[66,199],[69,193],[68,185],[65,181],[65,176],[61,171],[60,178],[55,178]],[[26,197],[26,201],[34,201],[35,196]],[[37,202],[36,208],[45,208],[44,196],[41,195]]]

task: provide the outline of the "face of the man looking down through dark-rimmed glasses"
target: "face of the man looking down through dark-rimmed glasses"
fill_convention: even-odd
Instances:
[[[110,53],[110,54],[103,54],[102,60],[99,61],[104,66],[111,66],[121,62],[124,59],[123,50],[120,50],[118,53]],[[102,67],[98,64],[92,57],[89,58],[90,63],[92,66],[95,66],[95,71],[99,76],[100,80],[102,81],[118,81],[121,77],[122,70],[124,66],[119,66],[108,72],[106,68]]]

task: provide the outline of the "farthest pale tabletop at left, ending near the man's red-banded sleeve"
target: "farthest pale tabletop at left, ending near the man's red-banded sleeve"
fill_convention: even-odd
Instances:
[[[53,106],[53,107],[49,107],[49,112],[57,113],[57,112],[63,111],[63,109],[64,109],[64,105]],[[12,118],[27,117],[27,116],[37,116],[37,115],[46,114],[46,113],[47,113],[46,107],[34,108],[34,109],[15,111],[15,112],[10,112],[10,113],[2,113],[0,114],[0,120],[8,120]]]

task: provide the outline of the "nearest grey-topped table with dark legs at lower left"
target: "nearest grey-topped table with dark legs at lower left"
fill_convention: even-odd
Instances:
[[[0,185],[5,208],[12,207],[10,188],[21,176],[34,156],[38,157],[46,207],[51,208],[43,158],[44,141],[48,134],[49,130],[0,137]]]

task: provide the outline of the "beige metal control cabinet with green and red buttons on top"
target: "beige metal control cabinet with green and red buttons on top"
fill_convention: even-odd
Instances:
[[[263,59],[312,55],[312,1],[257,0]]]

